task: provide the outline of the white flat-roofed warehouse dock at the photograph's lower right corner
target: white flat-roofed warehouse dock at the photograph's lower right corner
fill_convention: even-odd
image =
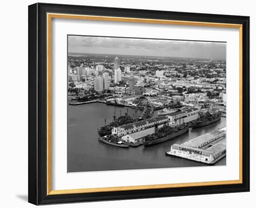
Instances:
[[[226,156],[226,127],[182,144],[173,144],[166,155],[213,165]]]

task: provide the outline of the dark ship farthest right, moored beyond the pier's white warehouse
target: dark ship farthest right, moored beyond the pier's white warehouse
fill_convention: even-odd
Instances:
[[[192,129],[200,128],[203,126],[207,126],[211,123],[215,123],[221,119],[221,113],[211,114],[209,112],[206,112],[206,115],[203,117],[200,117],[198,120],[193,122],[191,124]]]

